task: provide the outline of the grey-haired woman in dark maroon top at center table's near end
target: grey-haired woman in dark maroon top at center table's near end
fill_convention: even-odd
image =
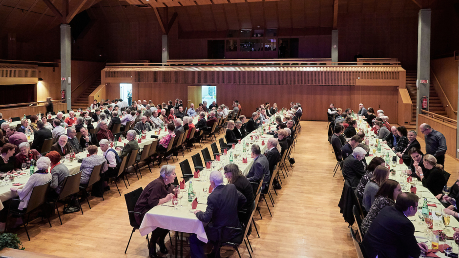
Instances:
[[[151,208],[169,202],[172,200],[174,194],[180,193],[180,189],[172,185],[176,177],[175,166],[164,165],[161,167],[160,176],[144,188],[134,207],[134,211],[137,212],[135,220],[139,225]],[[156,242],[158,240],[161,253],[167,254],[164,239],[168,233],[169,230],[159,227],[151,232],[151,239],[148,246],[150,257],[156,257]]]

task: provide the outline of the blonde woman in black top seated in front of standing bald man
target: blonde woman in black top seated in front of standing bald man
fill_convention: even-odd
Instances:
[[[431,154],[425,154],[422,160],[427,170],[422,173],[422,168],[418,166],[416,174],[421,179],[422,185],[437,196],[442,193],[443,187],[446,185],[443,166],[437,164],[437,159]]]

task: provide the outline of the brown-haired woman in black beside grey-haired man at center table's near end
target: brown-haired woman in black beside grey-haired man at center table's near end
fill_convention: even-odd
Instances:
[[[228,164],[224,167],[225,177],[228,179],[228,184],[234,184],[236,189],[241,192],[247,199],[247,202],[244,203],[241,210],[247,211],[247,213],[238,213],[239,221],[241,223],[250,223],[250,210],[255,206],[255,195],[253,194],[253,188],[249,180],[241,175],[239,167],[234,164]]]

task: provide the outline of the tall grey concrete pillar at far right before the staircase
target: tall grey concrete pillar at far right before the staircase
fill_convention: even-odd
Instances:
[[[422,110],[421,98],[429,98],[430,83],[430,20],[431,10],[421,9],[418,15],[417,27],[417,95],[416,95],[416,127],[418,125],[418,114]],[[426,81],[421,81],[426,80]],[[423,83],[421,83],[423,82]],[[428,99],[429,100],[429,99]],[[429,102],[427,102],[427,111]],[[418,132],[419,134],[419,132]]]

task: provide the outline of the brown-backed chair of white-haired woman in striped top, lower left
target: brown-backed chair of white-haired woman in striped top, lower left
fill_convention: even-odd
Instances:
[[[48,181],[47,183],[42,184],[42,185],[34,186],[34,188],[32,189],[32,193],[30,195],[29,202],[27,203],[27,207],[23,210],[20,210],[20,209],[11,210],[11,204],[13,202],[24,202],[23,200],[20,200],[20,199],[11,199],[12,203],[10,204],[10,207],[8,208],[8,216],[10,214],[21,216],[22,221],[24,222],[25,233],[27,234],[27,238],[29,239],[29,241],[30,241],[30,236],[29,236],[29,232],[27,231],[27,224],[29,223],[30,213],[34,211],[35,209],[41,207],[46,202],[46,193],[49,190],[49,185],[51,185],[51,181]],[[43,212],[43,213],[46,215],[46,219],[48,219],[49,227],[52,227],[51,221],[49,221],[48,213],[47,212]],[[25,220],[25,215],[29,215],[27,216],[27,220]],[[8,220],[5,223],[5,229],[7,229],[7,224],[8,224]]]

